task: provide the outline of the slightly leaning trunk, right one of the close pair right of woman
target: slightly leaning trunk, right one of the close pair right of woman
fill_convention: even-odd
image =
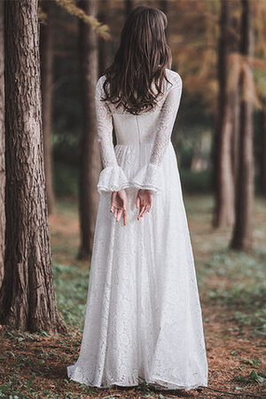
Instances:
[[[251,87],[253,74],[252,8],[250,0],[241,0],[241,46],[240,52],[246,57],[240,74],[240,131],[239,131],[239,179],[236,196],[236,223],[231,239],[231,248],[250,251],[253,244],[252,218],[254,207],[254,159],[253,159],[253,102],[246,96]]]

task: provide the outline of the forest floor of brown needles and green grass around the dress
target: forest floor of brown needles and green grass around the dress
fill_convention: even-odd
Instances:
[[[82,340],[88,262],[75,259],[79,225],[74,201],[61,200],[50,217],[52,260],[66,334],[0,330],[0,398],[266,398],[266,202],[255,201],[254,250],[228,250],[231,231],[213,231],[210,197],[184,203],[200,291],[207,346],[208,387],[155,391],[146,384],[122,389],[86,387],[66,378]]]

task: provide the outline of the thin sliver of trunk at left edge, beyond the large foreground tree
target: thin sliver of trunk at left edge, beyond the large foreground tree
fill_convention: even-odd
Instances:
[[[4,278],[4,2],[0,2],[0,286]]]

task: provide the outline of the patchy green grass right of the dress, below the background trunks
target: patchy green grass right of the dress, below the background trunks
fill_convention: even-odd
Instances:
[[[266,201],[255,202],[251,254],[228,248],[230,228],[213,231],[211,198],[189,197],[185,204],[200,291],[224,309],[233,311],[239,324],[252,325],[256,333],[266,336]]]

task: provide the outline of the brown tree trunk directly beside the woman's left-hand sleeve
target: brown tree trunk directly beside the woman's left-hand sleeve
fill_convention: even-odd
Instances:
[[[80,7],[96,15],[95,0],[82,0]],[[78,259],[90,260],[98,210],[97,183],[101,169],[95,113],[95,86],[98,80],[98,37],[80,21],[83,128],[81,137],[80,223],[81,246]]]

